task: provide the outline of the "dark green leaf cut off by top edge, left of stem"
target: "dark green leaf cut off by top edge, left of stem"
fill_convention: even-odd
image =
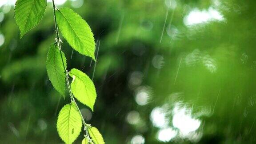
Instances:
[[[15,20],[20,28],[20,38],[34,28],[44,16],[46,0],[17,0],[15,4]]]

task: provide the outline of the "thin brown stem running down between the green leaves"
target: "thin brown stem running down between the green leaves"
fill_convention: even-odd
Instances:
[[[68,92],[69,92],[69,95],[70,95],[70,99],[71,101],[73,101],[75,104],[76,104],[76,100],[71,92],[71,87],[70,87],[70,84],[69,84],[69,81],[68,81],[68,71],[67,69],[65,68],[65,64],[64,64],[64,60],[63,60],[63,56],[62,56],[62,51],[61,51],[61,45],[60,45],[60,35],[59,35],[59,29],[58,29],[58,25],[57,25],[57,20],[56,20],[56,12],[55,12],[55,9],[56,8],[56,5],[54,3],[54,0],[52,0],[52,4],[53,4],[53,12],[54,12],[54,21],[55,21],[55,29],[56,29],[56,36],[57,36],[57,43],[59,45],[59,49],[60,49],[60,56],[61,56],[61,60],[62,60],[62,64],[63,64],[63,67],[64,67],[64,72],[66,73],[66,81],[67,81],[67,85],[68,85]],[[76,104],[76,108],[78,109],[78,112],[81,116],[81,119],[83,121],[83,124],[84,124],[84,131],[86,132],[86,136],[90,139],[89,137],[89,133],[88,133],[88,124],[86,124],[85,120],[84,120],[84,117],[78,107],[78,105]]]

